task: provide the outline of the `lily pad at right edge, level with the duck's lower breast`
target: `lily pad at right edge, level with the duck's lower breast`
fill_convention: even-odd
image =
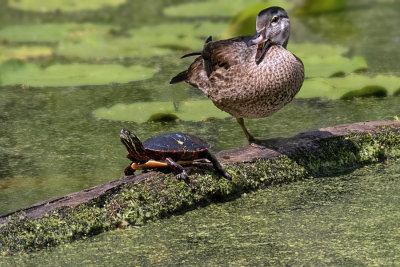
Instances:
[[[400,77],[390,75],[377,75],[368,77],[360,74],[350,74],[342,78],[313,78],[304,81],[303,87],[297,94],[297,98],[329,98],[340,99],[349,92],[369,94],[368,90],[361,89],[369,86],[379,86],[388,95],[393,95],[400,86]]]

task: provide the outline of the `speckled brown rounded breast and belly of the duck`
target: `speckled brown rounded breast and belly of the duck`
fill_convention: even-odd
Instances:
[[[300,59],[281,46],[272,46],[256,64],[256,46],[243,60],[218,68],[209,77],[208,95],[222,110],[235,117],[266,117],[289,103],[304,81]]]

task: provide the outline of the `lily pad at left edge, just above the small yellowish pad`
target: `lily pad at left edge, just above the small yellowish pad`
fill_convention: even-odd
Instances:
[[[91,23],[55,23],[11,25],[0,28],[0,40],[7,42],[58,42],[77,41],[86,35],[110,35],[115,27]]]

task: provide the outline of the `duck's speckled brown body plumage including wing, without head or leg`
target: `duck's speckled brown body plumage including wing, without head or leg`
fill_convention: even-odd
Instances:
[[[189,67],[186,82],[203,91],[214,104],[237,118],[262,118],[289,103],[300,90],[304,67],[282,46],[272,46],[256,64],[251,36],[205,45]],[[205,64],[212,66],[207,76]]]

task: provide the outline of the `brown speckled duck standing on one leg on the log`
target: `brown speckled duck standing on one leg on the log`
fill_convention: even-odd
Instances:
[[[293,100],[304,81],[304,65],[286,47],[290,35],[287,12],[277,6],[259,12],[256,33],[226,40],[206,40],[189,68],[170,84],[186,82],[214,105],[236,118],[250,144],[257,140],[244,119],[268,117]]]

